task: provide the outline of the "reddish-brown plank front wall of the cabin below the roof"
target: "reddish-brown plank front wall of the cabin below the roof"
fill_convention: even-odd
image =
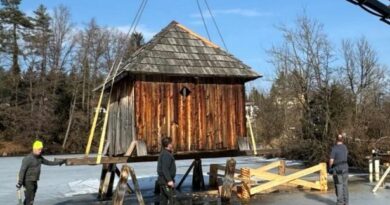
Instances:
[[[181,89],[187,87],[185,97]],[[221,78],[139,76],[134,84],[136,138],[158,152],[163,136],[177,151],[237,149],[246,136],[244,83]]]

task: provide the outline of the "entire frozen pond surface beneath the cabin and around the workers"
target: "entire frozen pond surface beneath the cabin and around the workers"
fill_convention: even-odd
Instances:
[[[55,157],[61,158],[65,156]],[[80,155],[67,155],[66,157],[80,157]],[[54,156],[46,156],[46,158],[53,160]],[[206,174],[209,171],[209,164],[224,164],[226,159],[227,158],[215,158],[202,160],[206,183],[208,182]],[[235,159],[237,160],[237,168],[259,167],[264,163],[277,160],[266,160],[261,157],[236,157]],[[0,204],[17,204],[15,184],[21,161],[22,157],[0,158]],[[176,181],[180,180],[181,176],[185,173],[191,162],[191,160],[177,161],[178,177],[176,178]],[[288,165],[297,163],[298,162],[287,161]],[[156,162],[131,164],[137,174],[137,178],[139,179],[143,195],[146,198],[153,196],[152,192],[154,189],[154,181],[156,179],[156,165]],[[105,202],[96,202],[95,200],[95,194],[98,192],[100,172],[101,166],[42,166],[41,180],[38,183],[39,188],[36,196],[36,204],[107,204]],[[353,178],[355,178],[355,180]],[[372,185],[368,184],[365,180],[362,181],[357,177],[352,177],[351,179],[351,181],[354,182],[351,182],[350,185],[350,204],[389,204],[389,189],[379,189],[377,194],[372,194]],[[190,183],[191,176],[189,176],[184,183],[184,189],[186,186],[188,187]],[[335,196],[332,189],[333,185],[330,183],[329,186],[331,187],[331,190],[326,193],[293,191],[291,193],[280,192],[268,195],[259,195],[254,197],[250,204],[335,204]],[[215,202],[209,204],[217,203]]]

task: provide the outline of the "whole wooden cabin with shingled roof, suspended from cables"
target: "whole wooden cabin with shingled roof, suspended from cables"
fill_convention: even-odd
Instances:
[[[261,77],[219,46],[173,21],[120,68],[111,95],[109,155],[164,136],[176,151],[236,150],[246,137],[245,82]]]

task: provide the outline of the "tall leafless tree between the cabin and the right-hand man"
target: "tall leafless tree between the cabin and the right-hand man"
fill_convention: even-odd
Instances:
[[[298,17],[295,28],[281,26],[284,36],[282,46],[270,50],[272,62],[279,73],[290,76],[289,87],[293,88],[295,100],[303,109],[303,136],[324,140],[329,134],[329,86],[333,67],[333,53],[330,42],[323,31],[323,25],[307,16]],[[315,93],[322,91],[323,111],[313,113]],[[324,118],[321,133],[315,133],[313,118]],[[316,136],[315,136],[316,135]]]

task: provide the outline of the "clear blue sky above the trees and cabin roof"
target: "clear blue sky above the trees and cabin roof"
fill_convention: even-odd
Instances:
[[[21,9],[31,14],[39,4],[49,10],[62,4],[70,9],[78,27],[95,18],[99,25],[126,30],[140,3],[141,0],[23,0]],[[377,51],[379,61],[390,67],[390,26],[346,0],[208,0],[208,3],[229,52],[264,76],[249,86],[269,89],[275,72],[268,63],[267,49],[282,41],[276,26],[293,26],[303,10],[324,24],[336,51],[339,52],[342,39],[365,36]],[[204,4],[203,8],[207,12]],[[205,17],[211,40],[222,46],[211,18]],[[149,0],[138,30],[149,39],[172,20],[207,37],[196,0]]]

